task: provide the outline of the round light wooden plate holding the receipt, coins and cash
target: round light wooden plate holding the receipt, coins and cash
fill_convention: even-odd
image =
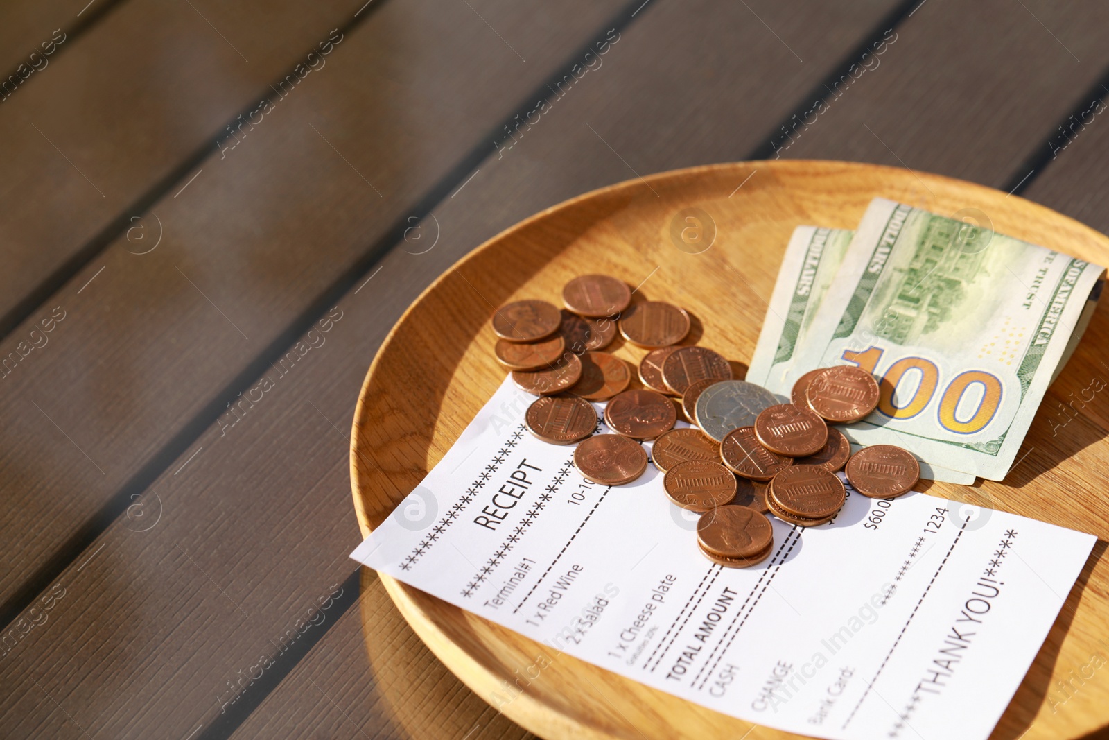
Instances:
[[[998,232],[1109,264],[1109,239],[1049,209],[980,185],[866,164],[741,162],[631,180],[581,195],[474,250],[420,295],[386,338],[354,418],[350,480],[363,535],[416,487],[503,378],[488,321],[496,306],[519,298],[558,304],[571,277],[608,273],[640,286],[637,297],[689,310],[694,323],[686,343],[695,341],[745,363],[793,227],[854,229],[875,196],[985,217]],[[1099,310],[1045,408],[1066,402],[1065,391],[1081,388],[1091,376],[1109,376],[1098,354],[1107,338],[1109,310]],[[617,355],[637,364],[644,354],[619,339],[613,346]],[[933,484],[929,493],[1103,539],[1109,528],[1103,490],[1087,470],[1109,458],[1106,417],[1083,409],[1068,434],[1052,436],[1051,424],[1040,418],[1045,416],[1041,409],[1025,443],[1035,454],[1004,484]],[[1105,543],[1093,553],[995,737],[1076,737],[1109,723],[1109,668],[1102,668],[1109,642],[1101,641],[1109,632]],[[556,656],[549,647],[380,578],[404,617],[451,671],[545,738],[734,740],[751,729],[747,722]],[[376,643],[375,620],[365,615],[364,633],[368,643]],[[539,656],[550,660],[541,670],[536,668]],[[529,681],[536,672],[538,678]],[[1062,688],[1059,681],[1069,683]],[[786,733],[760,728],[756,737]]]

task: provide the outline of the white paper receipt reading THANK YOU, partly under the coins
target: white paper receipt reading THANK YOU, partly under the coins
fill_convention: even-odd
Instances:
[[[564,652],[791,732],[986,738],[1096,541],[848,487],[833,521],[771,517],[772,555],[722,568],[653,465],[625,486],[583,479],[572,446],[523,428],[533,399],[506,379],[352,555],[548,646],[520,672],[525,691]]]

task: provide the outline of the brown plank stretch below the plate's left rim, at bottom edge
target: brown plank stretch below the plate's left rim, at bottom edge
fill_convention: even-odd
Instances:
[[[461,686],[395,611],[381,581],[364,569],[357,608],[339,618],[233,737],[380,738],[385,721],[395,737],[535,737]],[[378,626],[373,640],[363,633],[364,621]],[[302,697],[293,687],[311,693]]]

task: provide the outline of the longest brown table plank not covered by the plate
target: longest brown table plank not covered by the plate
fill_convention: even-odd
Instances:
[[[497,11],[526,64],[465,3],[433,4],[383,6],[226,159],[214,152],[184,192],[155,204],[156,250],[139,255],[116,240],[0,343],[0,357],[19,359],[0,377],[10,422],[0,600],[617,6],[567,7],[563,24],[553,12],[479,4]],[[28,348],[54,306],[64,320]]]

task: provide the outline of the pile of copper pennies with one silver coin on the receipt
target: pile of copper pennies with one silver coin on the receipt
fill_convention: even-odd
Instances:
[[[648,466],[642,442],[676,506],[701,514],[698,546],[722,566],[743,568],[773,549],[766,514],[801,527],[830,521],[846,500],[835,474],[844,470],[864,496],[892,498],[909,490],[920,468],[908,452],[874,445],[851,454],[830,424],[849,424],[877,406],[874,377],[855,366],[803,375],[782,404],[766,388],[733,379],[716,352],[678,345],[689,314],[659,301],[631,304],[631,291],[607,275],[581,275],[562,288],[564,308],[518,301],[492,317],[497,361],[517,387],[538,395],[526,414],[536,437],[574,443],[573,464],[610,486],[631,483]],[[601,352],[619,331],[649,352],[639,364],[643,388],[628,389],[624,361]],[[607,401],[598,434],[590,402]],[[695,427],[674,428],[678,408]]]

